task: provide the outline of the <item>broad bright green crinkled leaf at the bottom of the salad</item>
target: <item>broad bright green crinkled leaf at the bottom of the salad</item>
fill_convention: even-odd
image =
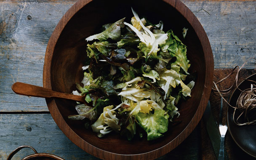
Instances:
[[[154,114],[139,112],[136,115],[138,124],[147,133],[148,141],[163,136],[162,133],[165,133],[168,130],[168,118],[169,115],[165,115],[165,111],[163,109],[155,110]]]

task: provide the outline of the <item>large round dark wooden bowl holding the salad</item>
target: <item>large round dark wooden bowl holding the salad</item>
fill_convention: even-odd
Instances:
[[[133,139],[128,141],[112,133],[98,138],[86,130],[80,121],[68,115],[76,114],[74,101],[46,99],[48,109],[61,131],[78,147],[102,159],[155,159],[177,147],[194,130],[207,105],[213,79],[213,54],[208,37],[195,15],[179,0],[80,0],[61,18],[45,53],[43,86],[54,91],[71,93],[75,83],[83,79],[81,67],[85,60],[85,38],[99,32],[106,23],[123,17],[130,21],[131,7],[139,16],[157,24],[164,22],[164,30],[174,33],[187,45],[190,72],[197,72],[192,97],[182,102],[181,123],[169,126],[163,137],[155,141]],[[188,28],[182,37],[183,27]]]

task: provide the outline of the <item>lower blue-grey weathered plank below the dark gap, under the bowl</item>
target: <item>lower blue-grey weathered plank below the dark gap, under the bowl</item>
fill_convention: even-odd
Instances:
[[[4,114],[0,115],[0,159],[7,156],[21,145],[30,145],[37,152],[46,152],[65,160],[96,160],[73,144],[61,132],[50,114]],[[111,146],[110,146],[111,147]],[[179,159],[197,160],[200,158],[200,127],[176,149],[159,160]],[[18,152],[13,160],[32,154],[30,149]]]

